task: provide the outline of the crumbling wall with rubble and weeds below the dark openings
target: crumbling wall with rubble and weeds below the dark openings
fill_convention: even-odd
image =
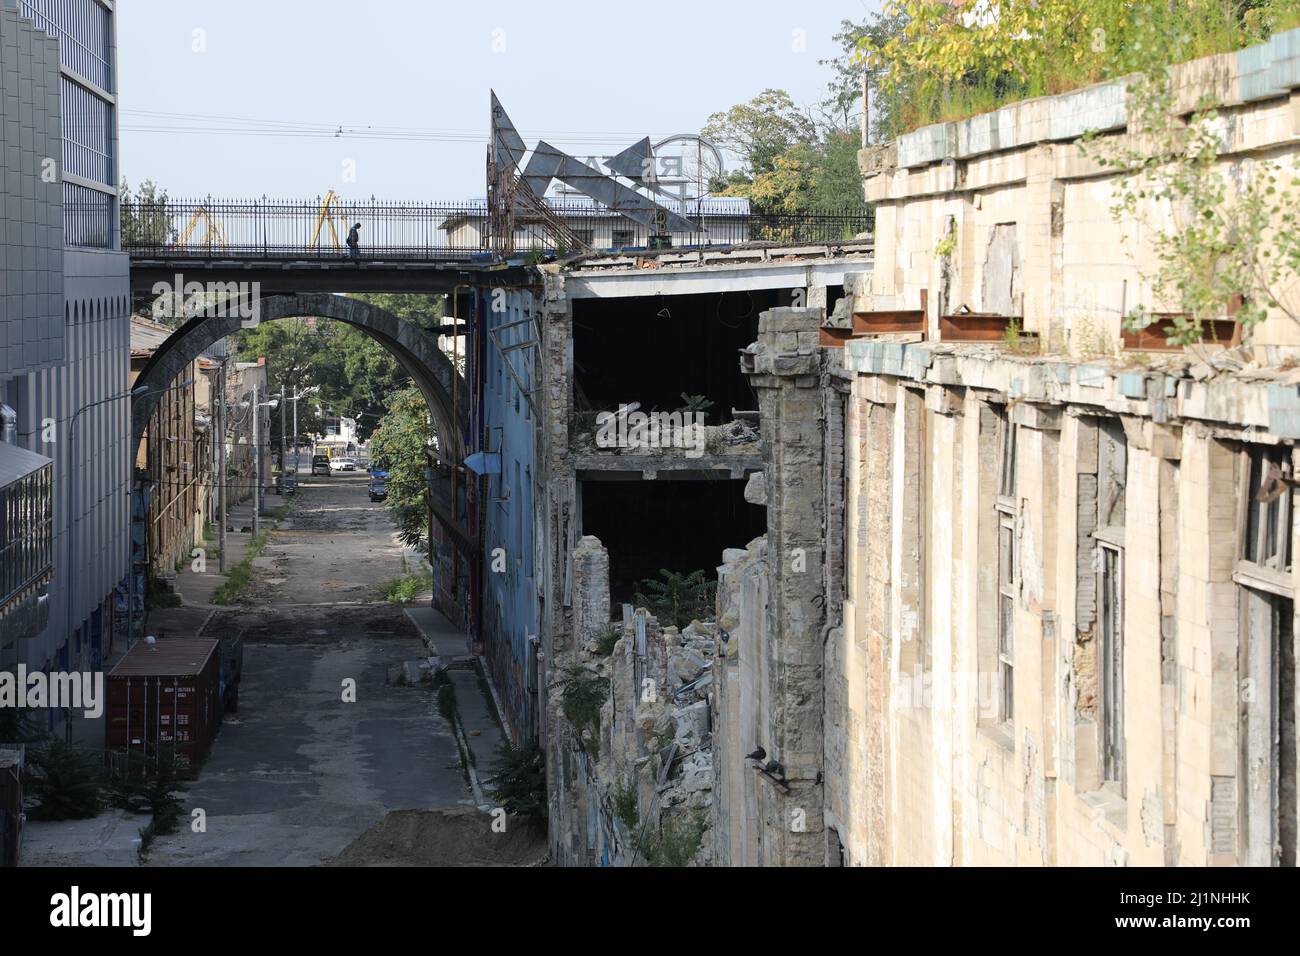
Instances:
[[[662,627],[624,606],[610,622],[610,555],[594,537],[573,551],[576,645],[552,672],[555,780],[551,843],[559,865],[636,866],[714,860],[712,697],[718,631]],[[612,653],[598,637],[618,630]],[[564,696],[604,691],[598,726],[576,727]]]

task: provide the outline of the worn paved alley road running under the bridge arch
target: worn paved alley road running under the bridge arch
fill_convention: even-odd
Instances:
[[[183,797],[207,832],[160,839],[150,862],[313,865],[390,810],[469,803],[433,692],[390,683],[426,652],[380,596],[403,574],[402,549],[365,473],[302,476],[255,567],[252,606],[218,610],[204,632],[246,641],[239,711]],[[342,700],[348,679],[355,704]]]

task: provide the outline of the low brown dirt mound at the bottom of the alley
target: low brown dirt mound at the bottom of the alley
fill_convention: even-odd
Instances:
[[[328,866],[537,866],[546,838],[510,819],[493,832],[493,818],[473,806],[394,810],[334,857]]]

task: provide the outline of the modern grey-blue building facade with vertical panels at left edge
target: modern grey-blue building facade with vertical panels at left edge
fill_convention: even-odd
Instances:
[[[13,410],[17,445],[52,462],[56,566],[48,623],[0,639],[0,662],[92,669],[129,562],[130,293],[117,225],[113,7],[5,0],[0,44],[0,402]]]

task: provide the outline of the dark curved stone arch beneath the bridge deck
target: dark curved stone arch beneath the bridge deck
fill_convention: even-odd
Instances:
[[[424,393],[429,415],[438,436],[438,455],[447,463],[464,459],[464,434],[468,423],[468,402],[452,406],[452,392],[465,395],[464,381],[451,359],[438,347],[438,339],[404,319],[359,299],[328,293],[300,293],[269,295],[257,300],[259,321],[277,319],[316,317],[334,319],[369,333],[386,347]],[[237,311],[237,310],[231,310]],[[185,372],[204,350],[226,336],[239,332],[242,319],[229,316],[195,316],[159,347],[140,371],[135,388],[161,390]],[[157,392],[131,399],[131,449],[139,449],[148,428],[150,418],[161,401]],[[134,460],[134,453],[133,453]]]

